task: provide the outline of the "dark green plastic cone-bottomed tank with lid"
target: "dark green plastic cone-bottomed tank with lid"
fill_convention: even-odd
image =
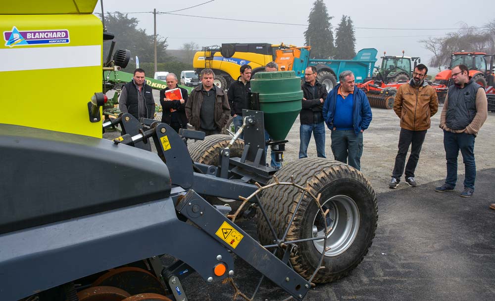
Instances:
[[[259,109],[272,139],[285,140],[302,108],[301,79],[294,71],[258,72],[251,92],[259,93]]]

